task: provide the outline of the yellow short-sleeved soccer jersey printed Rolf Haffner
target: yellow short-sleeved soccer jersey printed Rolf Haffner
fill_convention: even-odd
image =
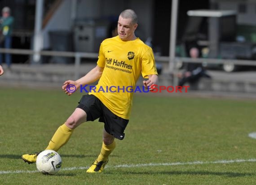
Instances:
[[[140,75],[157,75],[152,49],[139,38],[123,41],[119,36],[103,40],[97,65],[104,67],[93,94],[115,115],[129,119],[132,108],[131,89]],[[142,83],[141,83],[142,84]]]

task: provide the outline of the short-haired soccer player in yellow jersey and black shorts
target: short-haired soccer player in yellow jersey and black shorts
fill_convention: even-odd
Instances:
[[[64,82],[62,89],[68,95],[67,87],[91,84],[97,80],[96,89],[84,95],[79,105],[60,126],[45,150],[59,150],[71,137],[74,129],[81,123],[99,118],[104,123],[102,149],[95,162],[87,172],[102,172],[110,153],[115,149],[115,138],[124,139],[132,107],[130,89],[136,86],[142,74],[145,88],[152,90],[151,85],[157,84],[158,74],[155,67],[152,49],[136,37],[137,15],[126,9],[119,15],[118,36],[103,40],[97,66],[84,77]],[[131,87],[128,88],[127,87]],[[100,90],[103,89],[103,90]],[[27,163],[35,163],[38,153],[24,154],[22,159]]]

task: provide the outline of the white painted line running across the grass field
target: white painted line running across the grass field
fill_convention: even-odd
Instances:
[[[150,167],[150,166],[178,166],[178,165],[196,165],[196,164],[227,164],[227,163],[245,163],[256,162],[256,159],[234,159],[234,160],[219,160],[219,161],[194,161],[194,162],[176,162],[176,163],[147,163],[147,164],[121,164],[116,166],[106,166],[106,168],[127,168],[127,167]],[[84,170],[88,167],[64,167],[61,171]],[[37,170],[15,170],[15,171],[0,171],[0,174],[15,174],[15,173],[35,173]]]

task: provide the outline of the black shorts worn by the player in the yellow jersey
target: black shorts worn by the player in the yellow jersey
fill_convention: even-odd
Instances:
[[[106,132],[119,140],[124,139],[124,129],[129,120],[123,119],[112,113],[97,97],[94,95],[84,95],[78,102],[77,108],[83,109],[87,114],[87,121],[99,119],[104,123]]]

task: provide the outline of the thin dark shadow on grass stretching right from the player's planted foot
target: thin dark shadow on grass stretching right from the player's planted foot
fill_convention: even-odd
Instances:
[[[112,172],[105,172],[111,174]],[[122,174],[134,174],[134,175],[202,175],[202,176],[228,176],[228,177],[239,177],[239,176],[255,176],[256,173],[239,173],[239,172],[209,172],[209,171],[164,171],[164,172],[121,172]]]

